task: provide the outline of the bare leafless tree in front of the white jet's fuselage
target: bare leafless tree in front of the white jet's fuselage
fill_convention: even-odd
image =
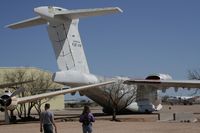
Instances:
[[[107,85],[104,89],[104,96],[107,99],[107,108],[111,110],[112,120],[118,121],[116,115],[125,110],[136,99],[136,87],[123,84],[123,80]]]

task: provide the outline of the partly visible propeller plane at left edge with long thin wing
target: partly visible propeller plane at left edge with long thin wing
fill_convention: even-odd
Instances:
[[[115,81],[101,82],[101,83],[84,85],[84,86],[64,89],[64,90],[60,90],[60,91],[47,92],[47,93],[26,96],[26,97],[16,97],[16,95],[18,95],[20,92],[24,91],[24,88],[18,88],[13,93],[11,93],[10,91],[6,91],[3,95],[0,96],[0,111],[5,112],[5,122],[8,124],[9,123],[8,110],[14,110],[18,104],[41,100],[44,98],[54,97],[54,96],[58,96],[58,95],[62,95],[62,94],[73,93],[76,91],[87,90],[87,89],[91,89],[94,87],[111,84],[114,82]],[[22,83],[28,83],[28,82],[19,82],[19,83],[15,83],[15,84],[14,83],[2,84],[0,86],[11,87],[11,85],[13,86],[13,85],[22,84]]]

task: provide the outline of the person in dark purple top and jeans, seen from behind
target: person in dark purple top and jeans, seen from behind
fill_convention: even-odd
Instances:
[[[83,133],[92,133],[92,122],[95,122],[95,118],[90,112],[89,106],[84,106],[79,121],[82,123]]]

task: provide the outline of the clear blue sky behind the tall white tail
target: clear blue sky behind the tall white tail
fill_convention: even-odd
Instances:
[[[33,66],[57,71],[46,26],[20,30],[4,26],[36,16],[34,7],[68,9],[118,6],[121,14],[80,20],[90,71],[144,78],[167,73],[187,79],[200,66],[199,0],[2,0],[0,67]]]

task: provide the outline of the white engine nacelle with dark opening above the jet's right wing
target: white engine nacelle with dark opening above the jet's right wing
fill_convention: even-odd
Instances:
[[[169,74],[150,74],[145,79],[148,80],[172,80]]]

